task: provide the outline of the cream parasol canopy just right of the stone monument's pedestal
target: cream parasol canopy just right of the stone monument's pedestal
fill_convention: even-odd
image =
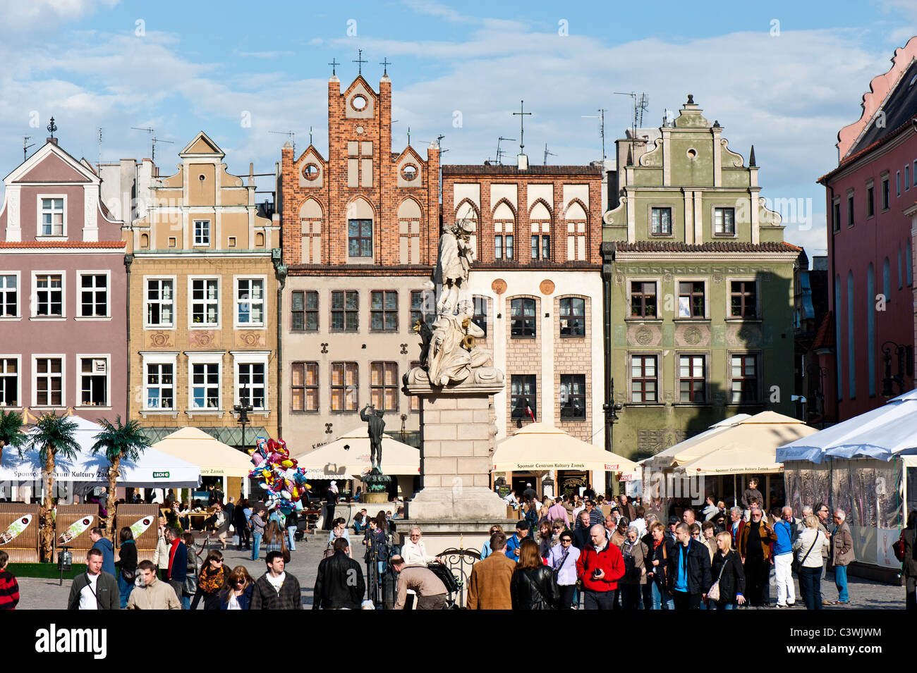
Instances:
[[[634,461],[570,436],[547,423],[531,423],[497,442],[492,472],[583,470],[636,472]]]

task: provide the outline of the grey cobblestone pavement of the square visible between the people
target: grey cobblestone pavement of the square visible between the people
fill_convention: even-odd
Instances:
[[[321,532],[317,535],[309,536],[305,542],[297,543],[296,550],[291,553],[290,563],[287,564],[287,571],[296,576],[300,586],[303,588],[303,604],[305,608],[312,606],[312,588],[315,586],[315,572],[318,568],[318,562],[322,559],[322,552],[325,548],[327,532]],[[357,540],[353,554],[356,559],[362,558],[362,548]],[[359,549],[357,549],[359,547]],[[202,556],[204,556],[202,554]],[[265,571],[264,551],[261,551],[261,560],[251,560],[250,551],[238,551],[235,547],[228,547],[223,552],[224,559],[229,568],[235,568],[238,565],[244,565],[249,569],[253,577],[258,577]],[[58,586],[58,581],[49,579],[36,578],[19,578],[19,592],[21,600],[19,608],[24,610],[62,610],[66,608],[67,597],[70,595],[71,581],[64,581],[63,586]],[[795,578],[794,578],[795,581]],[[903,610],[904,609],[904,587],[881,584],[875,581],[863,580],[856,577],[848,579],[848,589],[850,592],[850,605],[831,605],[824,606],[825,610]],[[805,606],[801,600],[799,592],[799,583],[796,581],[797,602],[794,609],[804,610]],[[834,601],[837,599],[837,589],[834,586],[834,575],[828,574],[825,581],[822,582],[823,599]],[[777,599],[777,588],[771,584],[770,587],[771,601]],[[198,609],[203,609],[203,602]],[[777,610],[774,610],[777,612]]]

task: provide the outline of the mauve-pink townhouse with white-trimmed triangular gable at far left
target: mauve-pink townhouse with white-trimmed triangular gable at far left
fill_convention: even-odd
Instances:
[[[125,244],[101,180],[49,138],[4,184],[0,407],[125,418]]]

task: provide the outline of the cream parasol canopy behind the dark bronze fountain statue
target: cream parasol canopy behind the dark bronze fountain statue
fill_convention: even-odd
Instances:
[[[325,446],[294,456],[306,479],[359,479],[370,472],[370,436],[366,426],[345,432]],[[382,435],[381,471],[385,474],[420,472],[420,450]]]

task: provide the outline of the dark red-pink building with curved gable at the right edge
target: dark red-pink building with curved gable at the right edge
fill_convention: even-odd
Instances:
[[[821,353],[828,420],[854,417],[914,387],[915,58],[911,38],[891,69],[869,82],[862,116],[837,135],[837,168],[819,179],[830,223],[824,327],[834,329]]]

